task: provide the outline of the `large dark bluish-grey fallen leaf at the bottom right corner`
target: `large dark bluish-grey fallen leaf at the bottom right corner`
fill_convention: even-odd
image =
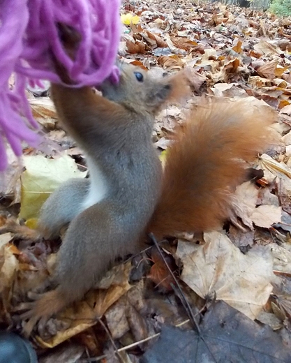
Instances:
[[[164,326],[158,341],[141,362],[291,361],[288,345],[270,327],[254,323],[223,302],[212,304],[201,319],[199,332]]]

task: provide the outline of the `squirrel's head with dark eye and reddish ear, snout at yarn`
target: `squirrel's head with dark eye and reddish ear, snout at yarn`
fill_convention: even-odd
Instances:
[[[118,84],[109,80],[101,84],[103,96],[117,103],[132,106],[135,110],[156,114],[167,102],[178,101],[189,93],[189,86],[184,74],[169,77],[154,77],[150,71],[121,64]]]

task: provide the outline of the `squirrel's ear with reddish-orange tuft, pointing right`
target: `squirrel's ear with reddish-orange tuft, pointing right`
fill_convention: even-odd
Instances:
[[[160,110],[166,102],[174,103],[190,96],[190,86],[186,74],[181,71],[176,75],[165,77],[154,85],[149,93],[147,104],[154,112]]]

